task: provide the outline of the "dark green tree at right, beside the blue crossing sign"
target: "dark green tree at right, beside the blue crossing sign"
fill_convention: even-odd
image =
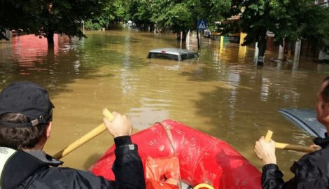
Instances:
[[[328,8],[316,6],[312,0],[250,0],[231,1],[229,18],[240,15],[239,20],[223,22],[221,31],[246,33],[244,43],[258,43],[258,63],[262,64],[267,45],[267,31],[274,33],[274,43],[294,42],[305,38],[328,44]],[[326,22],[326,24],[323,24]],[[325,26],[326,25],[326,26]],[[327,42],[326,42],[327,41]]]

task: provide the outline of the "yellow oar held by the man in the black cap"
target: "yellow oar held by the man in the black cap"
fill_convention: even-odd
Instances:
[[[113,120],[113,115],[108,109],[103,109],[103,116],[105,116],[109,120]],[[53,155],[56,159],[61,159],[68,153],[71,153],[71,151],[76,150],[76,148],[79,148],[83,144],[85,144],[87,141],[90,141],[97,135],[101,134],[102,132],[106,131],[106,126],[104,123],[99,125],[98,127],[94,128],[94,130],[91,130],[87,134],[83,135],[80,139],[77,139],[76,141],[73,141],[73,143],[69,144],[69,146],[66,146],[62,151],[59,151],[55,155]]]

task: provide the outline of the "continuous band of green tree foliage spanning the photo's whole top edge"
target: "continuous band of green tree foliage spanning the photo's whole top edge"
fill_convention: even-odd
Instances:
[[[51,6],[50,6],[51,5]],[[0,39],[5,29],[49,37],[53,33],[83,37],[85,27],[101,29],[111,22],[132,20],[160,31],[187,32],[197,28],[197,20],[209,26],[221,21],[223,34],[246,33],[244,45],[265,43],[267,31],[274,43],[309,39],[329,44],[328,7],[313,0],[2,0]],[[239,15],[239,20],[231,20]]]

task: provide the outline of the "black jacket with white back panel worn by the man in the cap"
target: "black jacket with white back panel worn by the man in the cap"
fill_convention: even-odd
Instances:
[[[132,144],[130,137],[117,137],[115,143],[116,160],[112,170],[116,181],[107,181],[92,172],[53,167],[62,162],[52,159],[42,151],[26,153],[0,147],[0,188],[145,188],[144,169],[137,153],[137,145]],[[1,153],[12,154],[4,162]]]

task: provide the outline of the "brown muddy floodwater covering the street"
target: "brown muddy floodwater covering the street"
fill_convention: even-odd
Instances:
[[[255,141],[267,130],[273,139],[311,144],[311,137],[277,111],[311,108],[329,66],[301,57],[300,62],[253,62],[254,49],[202,38],[195,62],[146,59],[148,50],[181,45],[174,35],[130,30],[85,31],[87,38],[45,39],[15,36],[0,41],[0,88],[16,80],[44,85],[55,104],[52,136],[45,146],[57,153],[102,123],[102,109],[125,113],[134,132],[167,118],[228,141],[253,165]],[[197,50],[195,34],[182,46]],[[107,132],[67,155],[64,166],[87,169],[113,144]],[[285,179],[302,153],[276,151]]]

